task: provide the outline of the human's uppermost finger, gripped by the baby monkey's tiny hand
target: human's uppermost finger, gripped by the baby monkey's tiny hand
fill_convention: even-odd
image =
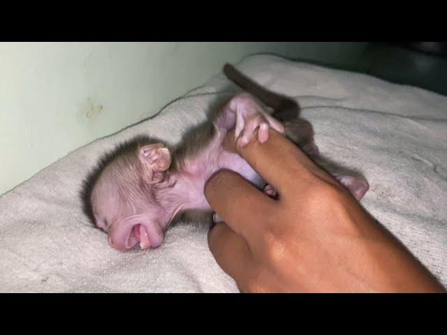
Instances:
[[[228,133],[223,147],[242,156],[281,195],[304,191],[316,175],[325,175],[293,142],[272,128],[267,142],[259,142],[255,135],[244,147],[238,146],[233,134]]]

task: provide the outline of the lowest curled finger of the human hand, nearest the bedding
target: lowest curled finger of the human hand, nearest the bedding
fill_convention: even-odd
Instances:
[[[244,291],[254,267],[254,258],[247,242],[225,223],[218,223],[208,234],[208,246],[217,264]]]

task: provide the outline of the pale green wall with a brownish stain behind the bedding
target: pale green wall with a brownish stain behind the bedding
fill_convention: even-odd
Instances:
[[[367,43],[0,43],[0,194],[254,53],[349,67]]]

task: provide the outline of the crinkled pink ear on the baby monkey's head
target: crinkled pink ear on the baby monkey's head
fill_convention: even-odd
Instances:
[[[162,143],[148,144],[140,148],[138,159],[143,169],[148,174],[148,179],[153,179],[159,172],[164,172],[170,167],[170,151]]]

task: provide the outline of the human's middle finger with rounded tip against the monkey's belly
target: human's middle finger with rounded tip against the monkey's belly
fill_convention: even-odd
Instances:
[[[205,184],[205,198],[230,228],[251,246],[261,241],[265,227],[275,217],[277,202],[244,179],[223,170]]]

